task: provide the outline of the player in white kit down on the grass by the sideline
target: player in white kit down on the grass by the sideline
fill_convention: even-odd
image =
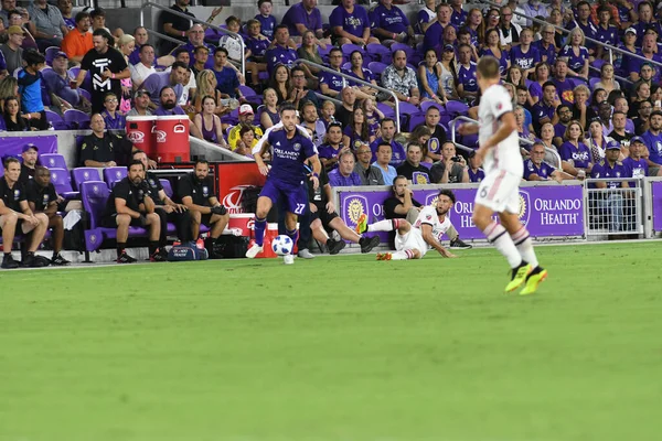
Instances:
[[[367,225],[367,216],[362,214],[356,233],[396,230],[396,252],[377,252],[377,260],[421,259],[430,248],[444,257],[457,257],[441,246],[439,240],[452,225],[447,214],[456,202],[450,190],[439,191],[436,206],[426,206],[420,211],[414,225],[406,219],[386,219]]]

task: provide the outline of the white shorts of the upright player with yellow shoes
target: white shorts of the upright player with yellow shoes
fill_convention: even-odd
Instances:
[[[493,212],[520,213],[520,181],[522,176],[504,170],[494,170],[481,181],[474,204],[484,205]]]

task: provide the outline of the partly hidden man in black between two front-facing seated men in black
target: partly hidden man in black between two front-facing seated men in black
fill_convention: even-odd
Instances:
[[[134,152],[134,161],[142,162],[145,170],[148,168],[147,154],[142,150]],[[145,180],[149,185],[149,195],[154,202],[154,211],[161,219],[161,237],[159,239],[159,248],[166,249],[168,245],[168,223],[172,222],[177,227],[177,236],[182,244],[193,240],[191,229],[191,213],[182,204],[175,204],[163,191],[163,186],[156,174],[148,171],[145,172]]]

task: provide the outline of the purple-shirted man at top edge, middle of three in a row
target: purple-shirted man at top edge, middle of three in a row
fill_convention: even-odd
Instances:
[[[367,12],[363,7],[355,6],[354,0],[342,0],[329,18],[331,34],[340,46],[351,43],[360,46],[380,43],[380,40],[370,36],[370,24]]]

